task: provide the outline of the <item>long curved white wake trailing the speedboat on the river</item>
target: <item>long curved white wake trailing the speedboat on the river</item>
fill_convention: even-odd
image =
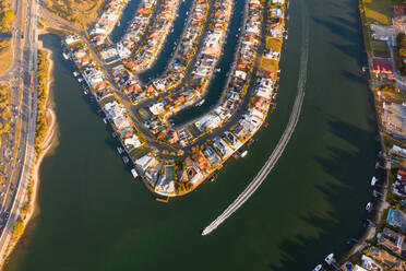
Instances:
[[[301,106],[304,98],[304,85],[307,79],[307,66],[308,66],[308,54],[309,54],[309,35],[308,35],[308,22],[306,16],[306,11],[302,12],[302,46],[300,55],[300,73],[298,80],[298,94],[295,99],[295,104],[289,117],[289,121],[286,129],[276,144],[271,156],[267,158],[265,164],[262,166],[260,172],[253,178],[253,180],[248,185],[248,187],[237,197],[237,199],[220,214],[208,226],[206,226],[202,235],[207,235],[214,229],[216,229],[224,221],[226,221],[234,212],[236,212],[261,186],[265,180],[266,176],[270,174],[272,168],[275,166],[276,162],[283,154],[291,134],[295,131],[296,125],[298,123]]]

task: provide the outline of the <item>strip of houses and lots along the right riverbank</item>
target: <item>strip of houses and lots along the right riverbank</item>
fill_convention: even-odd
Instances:
[[[342,270],[406,270],[406,7],[403,1],[360,0],[359,13],[368,56],[370,90],[373,94],[382,152],[377,168],[383,179],[371,180],[377,210],[365,221],[367,233],[356,243]]]

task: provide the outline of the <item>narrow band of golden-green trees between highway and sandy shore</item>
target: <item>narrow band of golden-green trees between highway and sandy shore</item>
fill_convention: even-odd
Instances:
[[[35,127],[35,153],[43,152],[41,144],[45,140],[48,123],[46,116],[46,103],[48,99],[48,71],[49,62],[47,54],[38,50],[38,85],[37,85],[37,123]]]

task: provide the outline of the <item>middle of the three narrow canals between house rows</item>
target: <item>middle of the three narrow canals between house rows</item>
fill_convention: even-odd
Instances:
[[[186,20],[190,15],[190,9],[192,8],[193,2],[194,1],[192,0],[187,0],[180,3],[178,17],[174,22],[172,32],[168,34],[168,38],[166,39],[158,58],[150,69],[139,74],[139,78],[143,83],[147,83],[150,79],[159,78],[165,72],[169,60],[176,50],[176,45],[179,43],[184,31]]]

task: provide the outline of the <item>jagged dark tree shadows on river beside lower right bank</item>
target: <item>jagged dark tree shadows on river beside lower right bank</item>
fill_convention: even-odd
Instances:
[[[270,263],[268,270],[311,270],[331,252],[339,257],[339,251],[350,249],[350,246],[345,244],[346,239],[362,235],[362,220],[371,217],[363,209],[365,204],[373,199],[372,188],[366,190],[369,179],[365,179],[365,172],[371,172],[375,157],[371,156],[371,150],[365,142],[373,142],[374,132],[337,119],[330,119],[327,123],[332,133],[350,145],[349,151],[330,145],[326,146],[327,157],[314,157],[327,176],[339,181],[325,180],[314,186],[327,200],[330,210],[322,215],[298,214],[303,224],[315,228],[317,236],[296,235],[284,240],[278,245],[283,260],[279,263]],[[378,152],[379,142],[374,142],[373,148]],[[361,164],[360,160],[368,163]],[[348,204],[348,201],[351,203]],[[343,235],[343,232],[350,235]],[[313,259],[320,260],[314,262]]]

